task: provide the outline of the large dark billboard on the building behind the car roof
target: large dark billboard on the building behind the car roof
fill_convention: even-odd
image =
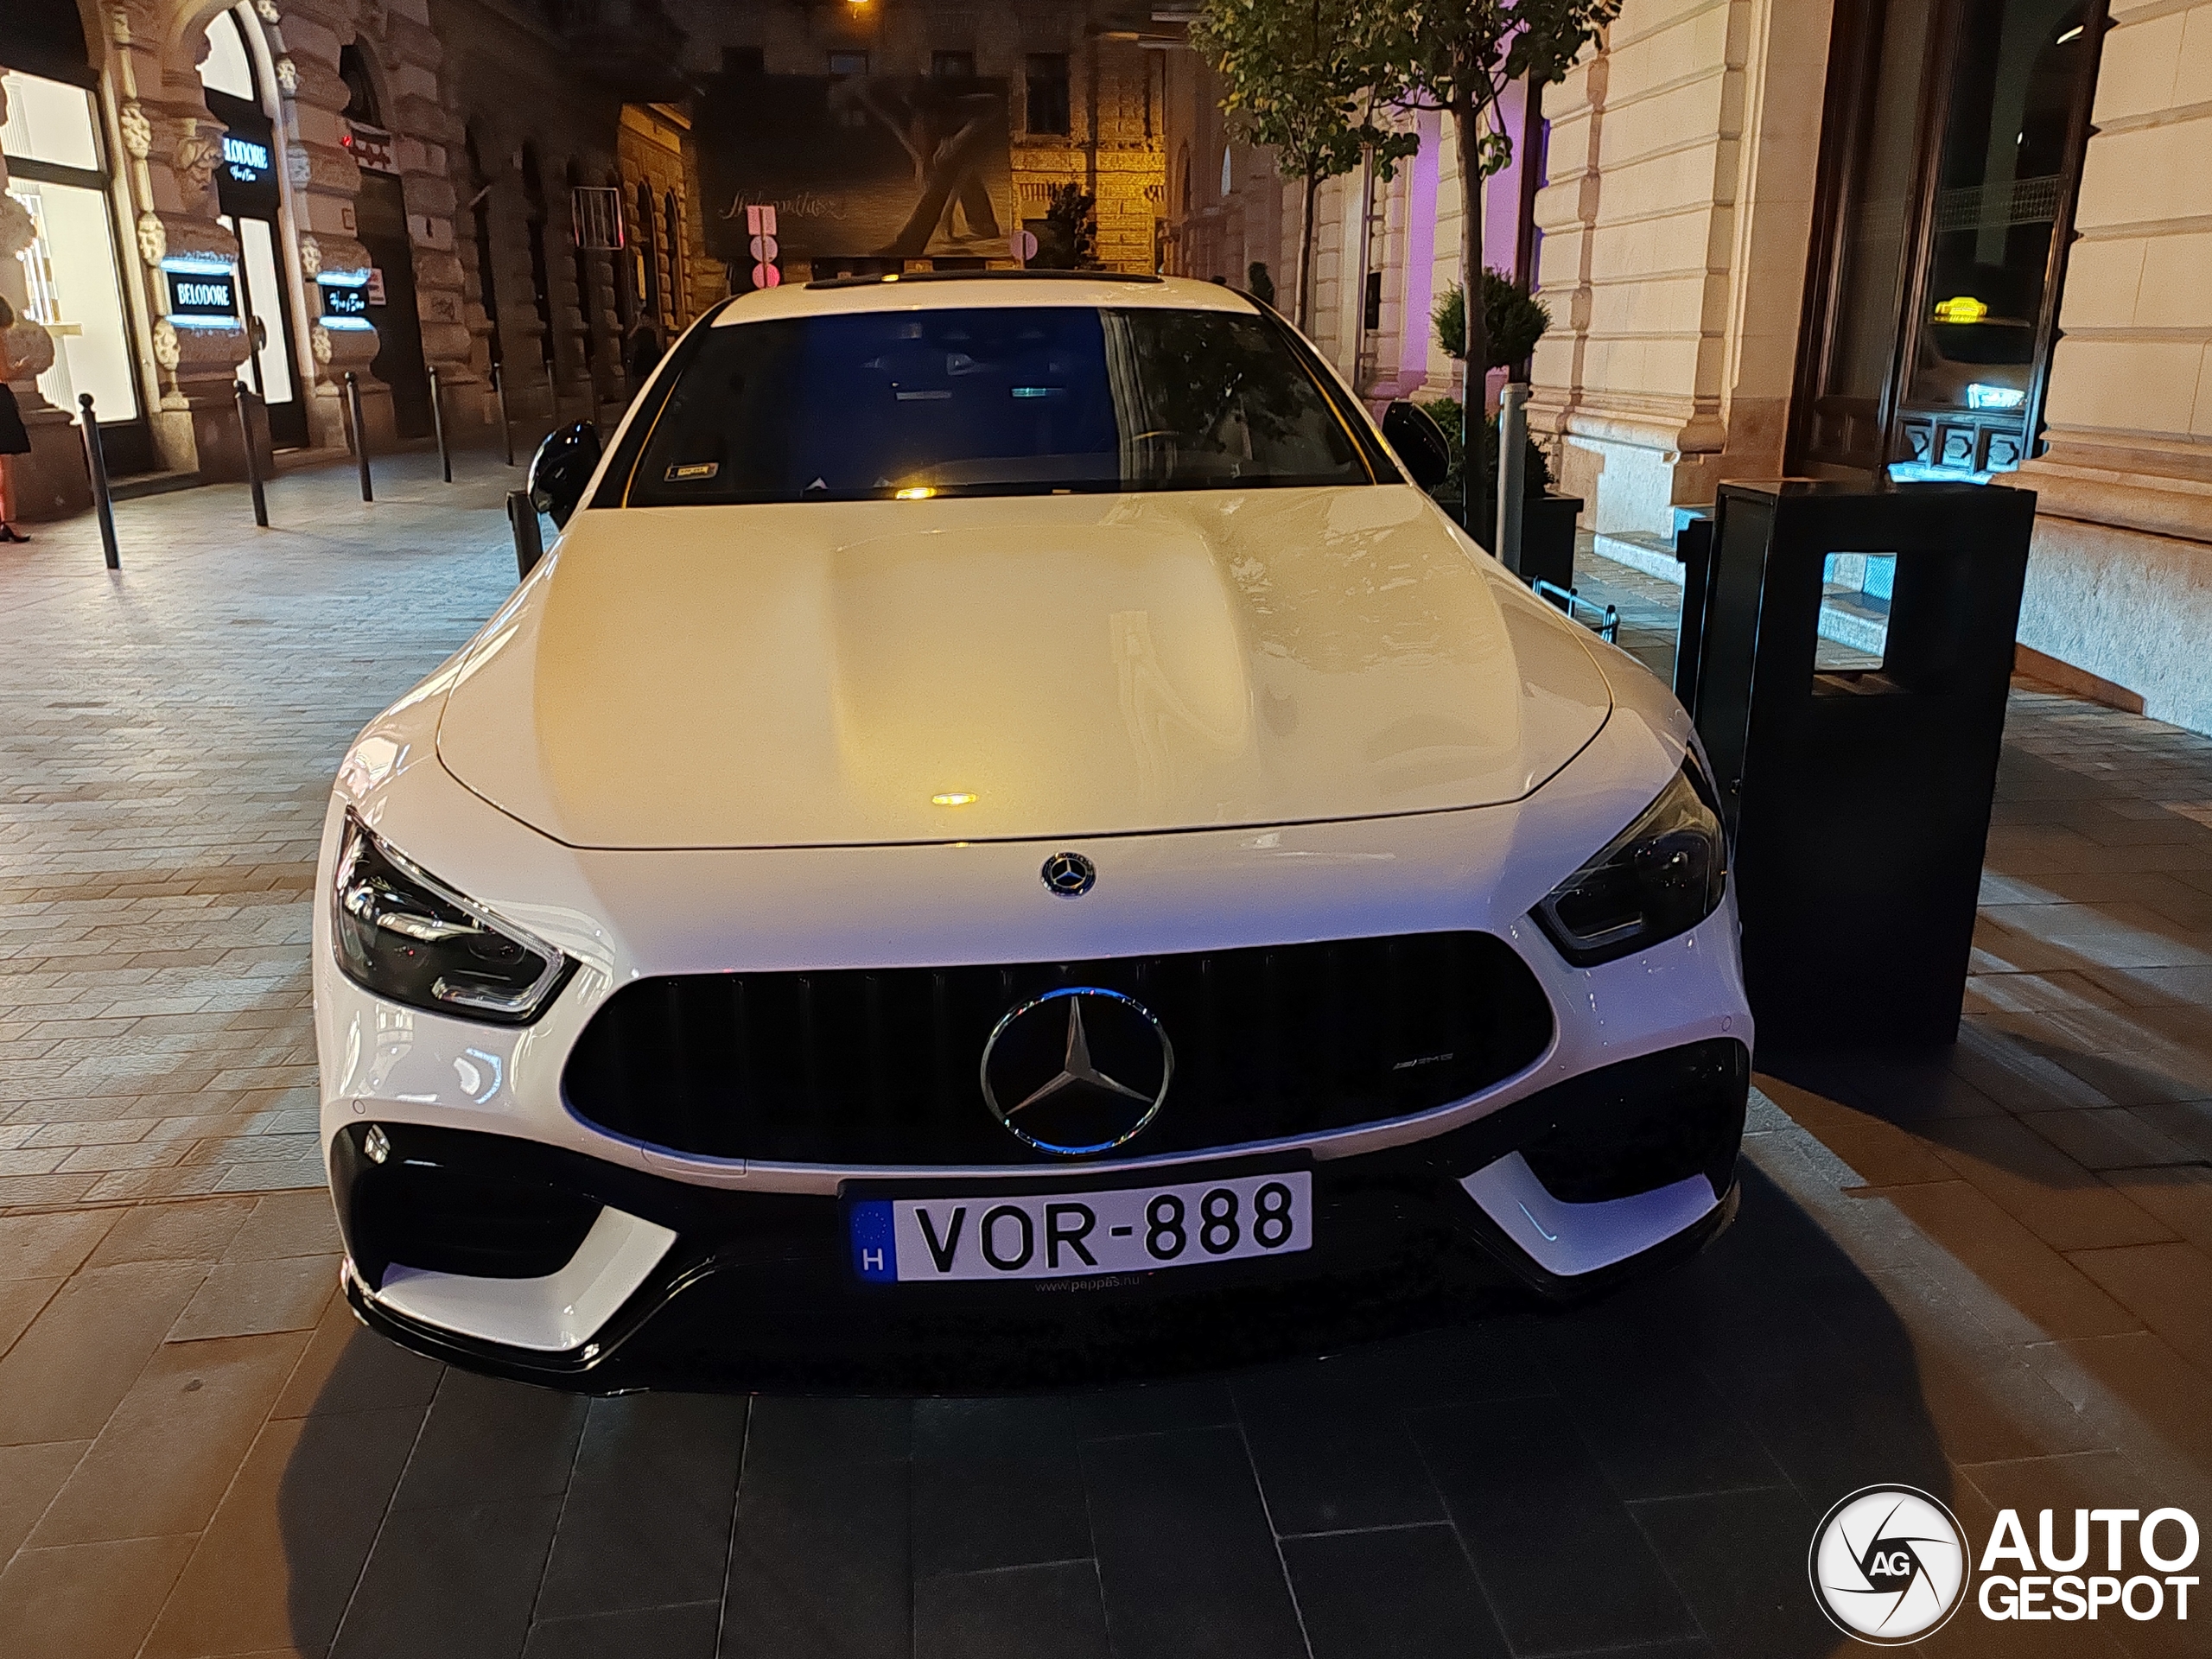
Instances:
[[[706,243],[752,261],[745,208],[776,208],[779,257],[1006,257],[1013,159],[1006,84],[945,75],[734,75],[692,135]]]

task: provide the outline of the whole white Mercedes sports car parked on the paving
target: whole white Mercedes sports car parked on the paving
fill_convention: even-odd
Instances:
[[[323,832],[358,1314],[591,1391],[920,1380],[1712,1237],[1690,723],[1438,462],[1263,305],[1102,274],[732,299],[549,440],[560,542]]]

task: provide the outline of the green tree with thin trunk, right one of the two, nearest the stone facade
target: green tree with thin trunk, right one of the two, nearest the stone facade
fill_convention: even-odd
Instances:
[[[1566,77],[1575,58],[1621,11],[1621,0],[1369,0],[1358,73],[1398,108],[1451,115],[1460,142],[1460,272],[1484,276],[1482,181],[1513,159],[1498,100],[1517,80],[1535,97]],[[1467,363],[1486,363],[1486,305],[1467,314]],[[1469,372],[1478,398],[1482,372]]]

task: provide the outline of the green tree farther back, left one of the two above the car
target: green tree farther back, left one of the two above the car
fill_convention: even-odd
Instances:
[[[1420,148],[1376,119],[1358,0],[1206,0],[1190,44],[1221,75],[1221,106],[1250,144],[1274,146],[1305,186],[1298,219],[1298,327],[1314,290],[1314,195],[1369,150],[1387,179]]]

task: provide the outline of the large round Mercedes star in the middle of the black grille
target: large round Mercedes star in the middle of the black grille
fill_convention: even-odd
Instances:
[[[1062,854],[1073,856],[1073,854]],[[1152,1121],[1175,1046],[1152,1011],[1077,984],[1011,1009],[982,1046],[982,1099],[1040,1152],[1108,1152]]]

